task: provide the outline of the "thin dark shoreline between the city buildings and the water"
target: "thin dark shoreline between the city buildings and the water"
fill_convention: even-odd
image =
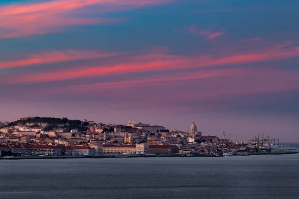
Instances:
[[[249,153],[249,155],[288,155],[288,154],[298,154],[298,151],[292,152],[283,152],[283,153]],[[33,160],[33,159],[84,159],[84,158],[150,158],[150,157],[181,157],[181,158],[188,158],[188,157],[215,157],[215,156],[208,156],[208,155],[156,155],[156,156],[126,156],[126,155],[112,155],[112,156],[15,156],[15,157],[0,157],[0,160]],[[219,156],[224,157],[224,156]]]

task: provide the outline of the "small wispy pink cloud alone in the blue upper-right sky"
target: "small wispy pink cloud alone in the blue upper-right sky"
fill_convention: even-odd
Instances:
[[[192,24],[187,28],[177,28],[174,31],[180,34],[190,34],[190,35],[202,35],[205,36],[208,40],[212,40],[220,35],[225,34],[223,31],[213,31],[213,30],[204,30],[198,28],[196,24]]]

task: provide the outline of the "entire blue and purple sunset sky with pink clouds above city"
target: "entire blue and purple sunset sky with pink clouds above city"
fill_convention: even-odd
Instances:
[[[0,121],[299,142],[298,0],[1,0]]]

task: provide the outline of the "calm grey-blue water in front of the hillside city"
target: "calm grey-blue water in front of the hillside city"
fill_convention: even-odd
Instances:
[[[299,199],[299,155],[0,160],[0,199]]]

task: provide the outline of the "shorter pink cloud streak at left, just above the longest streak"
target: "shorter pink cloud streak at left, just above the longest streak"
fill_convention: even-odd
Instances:
[[[118,53],[83,51],[83,50],[47,51],[41,54],[29,55],[29,57],[25,59],[14,60],[14,61],[1,61],[0,69],[31,66],[36,64],[58,63],[58,62],[66,62],[66,61],[112,57],[116,55],[118,55]]]

